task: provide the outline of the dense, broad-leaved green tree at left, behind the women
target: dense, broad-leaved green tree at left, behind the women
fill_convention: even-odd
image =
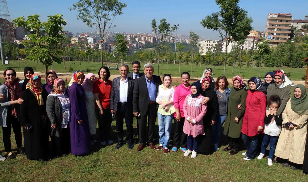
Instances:
[[[15,26],[25,27],[26,31],[30,32],[29,40],[22,42],[27,54],[26,59],[40,61],[47,73],[48,66],[51,66],[52,62],[55,61],[58,64],[62,62],[58,56],[61,50],[57,47],[61,39],[59,32],[63,32],[62,26],[66,25],[66,21],[59,14],[48,16],[46,22],[41,22],[39,17],[40,15],[30,15],[25,20],[22,16],[14,19],[13,22]]]

